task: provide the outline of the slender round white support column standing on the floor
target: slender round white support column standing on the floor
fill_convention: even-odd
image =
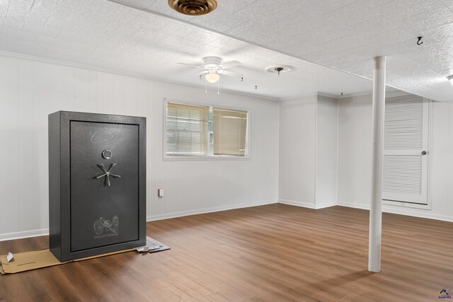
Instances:
[[[384,149],[385,61],[374,58],[373,120],[372,120],[372,192],[369,211],[369,272],[381,271],[382,236],[382,153]]]

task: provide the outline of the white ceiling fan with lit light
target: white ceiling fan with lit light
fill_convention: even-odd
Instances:
[[[205,74],[206,81],[208,81],[210,83],[216,83],[217,81],[219,81],[220,74],[222,74],[224,76],[237,76],[237,77],[242,76],[241,74],[238,74],[236,72],[225,70],[225,69],[229,69],[234,66],[239,66],[239,65],[241,65],[241,62],[230,61],[230,62],[222,63],[222,59],[219,57],[205,57],[205,58],[203,58],[203,63],[204,63],[203,65],[193,65],[193,64],[186,64],[186,63],[178,63],[178,64],[205,69],[202,72],[200,72],[200,74],[197,74],[197,75],[202,76],[203,74]]]

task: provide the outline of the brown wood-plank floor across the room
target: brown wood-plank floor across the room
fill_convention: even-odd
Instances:
[[[368,211],[285,204],[148,223],[171,247],[0,276],[0,301],[439,301],[453,289],[453,223],[383,214],[367,271]],[[47,236],[0,253],[47,248]]]

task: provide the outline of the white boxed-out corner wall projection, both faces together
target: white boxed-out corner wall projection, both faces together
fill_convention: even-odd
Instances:
[[[280,102],[280,202],[314,209],[336,204],[337,134],[335,98]]]

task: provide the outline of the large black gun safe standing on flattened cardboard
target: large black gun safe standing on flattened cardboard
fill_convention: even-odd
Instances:
[[[59,261],[146,245],[146,119],[49,115],[49,245]]]

